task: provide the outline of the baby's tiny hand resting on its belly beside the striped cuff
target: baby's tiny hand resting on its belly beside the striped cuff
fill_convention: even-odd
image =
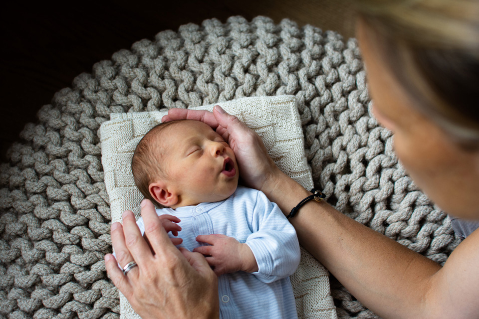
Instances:
[[[256,259],[249,246],[241,244],[235,238],[214,234],[200,235],[196,240],[211,245],[197,247],[193,251],[206,256],[206,261],[217,276],[237,271],[258,271]]]

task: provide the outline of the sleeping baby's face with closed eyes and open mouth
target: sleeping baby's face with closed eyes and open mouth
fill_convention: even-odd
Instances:
[[[203,122],[183,121],[165,128],[163,167],[168,183],[180,194],[178,206],[215,202],[230,197],[238,187],[235,153]]]

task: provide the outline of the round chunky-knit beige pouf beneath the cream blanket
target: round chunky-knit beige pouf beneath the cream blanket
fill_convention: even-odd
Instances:
[[[329,202],[444,263],[459,238],[370,117],[356,40],[287,19],[211,19],[95,64],[26,125],[1,164],[0,318],[119,317],[103,262],[111,214],[98,138],[111,113],[282,94],[298,99],[313,179]],[[333,283],[340,318],[375,318]]]

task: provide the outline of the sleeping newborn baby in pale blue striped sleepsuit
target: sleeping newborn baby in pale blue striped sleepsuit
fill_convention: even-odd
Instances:
[[[295,230],[261,191],[238,186],[235,153],[218,133],[199,121],[157,125],[132,171],[143,195],[165,207],[160,218],[179,221],[174,243],[205,255],[219,276],[221,318],[297,318],[288,277],[299,264]]]

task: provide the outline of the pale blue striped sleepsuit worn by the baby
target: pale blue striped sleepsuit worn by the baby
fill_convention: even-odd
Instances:
[[[246,243],[258,264],[255,273],[236,272],[218,278],[220,318],[297,318],[289,275],[299,264],[296,232],[261,191],[239,186],[228,199],[196,206],[158,209],[158,215],[181,219],[179,237],[192,251],[198,235],[224,234]],[[138,226],[144,232],[143,220]],[[170,234],[170,237],[173,235]]]

